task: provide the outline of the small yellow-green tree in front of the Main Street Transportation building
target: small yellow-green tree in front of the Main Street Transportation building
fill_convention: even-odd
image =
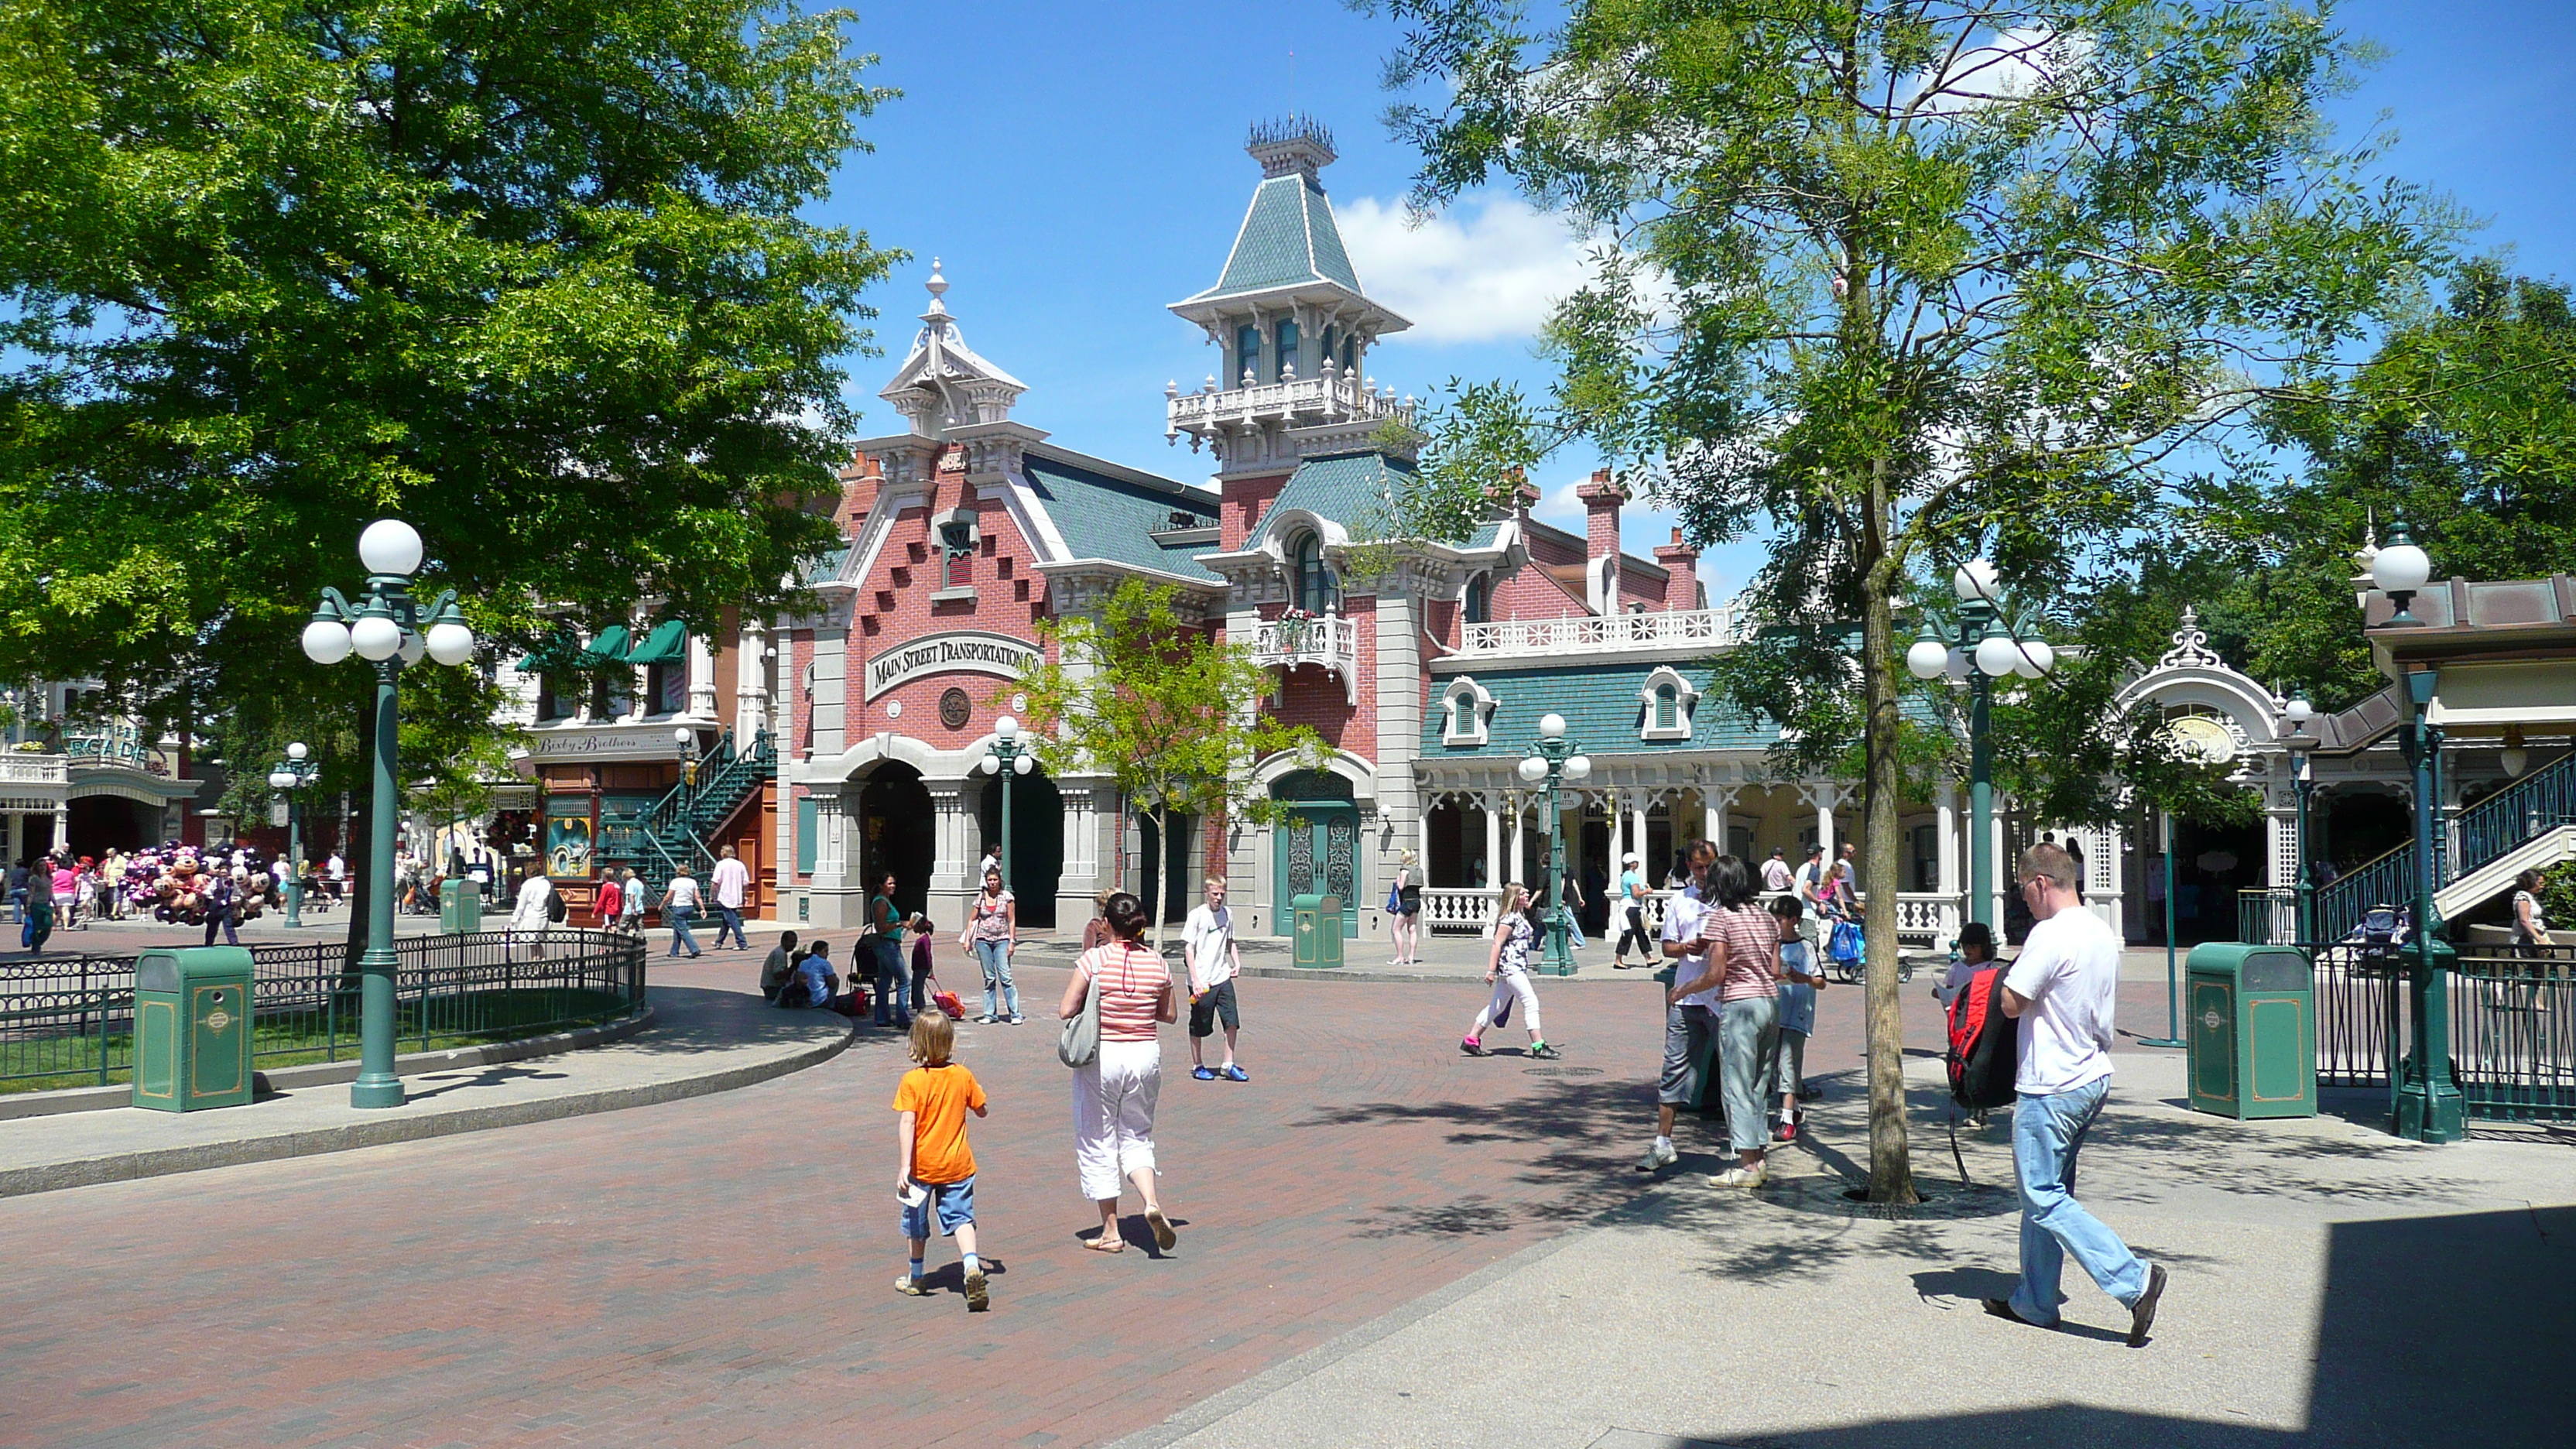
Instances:
[[[1028,696],[1038,761],[1054,773],[1097,773],[1139,820],[1154,822],[1146,882],[1154,900],[1172,900],[1162,879],[1172,820],[1221,815],[1265,825],[1278,804],[1252,792],[1252,766],[1293,753],[1316,761],[1321,735],[1260,712],[1270,670],[1249,650],[1188,624],[1170,585],[1123,580],[1097,614],[1038,621],[1043,665],[1012,691]],[[1162,949],[1154,913],[1154,946]]]

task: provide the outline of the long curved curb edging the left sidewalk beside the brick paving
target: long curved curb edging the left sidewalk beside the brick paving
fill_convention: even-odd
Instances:
[[[453,1137],[459,1132],[487,1132],[492,1127],[523,1127],[528,1122],[554,1122],[559,1116],[587,1116],[592,1111],[621,1111],[680,1101],[719,1091],[747,1088],[788,1073],[801,1073],[829,1062],[858,1039],[858,1024],[842,1036],[817,1042],[768,1062],[750,1062],[696,1078],[672,1078],[623,1088],[554,1096],[544,1101],[518,1101],[505,1106],[469,1106],[422,1116],[397,1116],[392,1122],[350,1122],[312,1132],[286,1132],[278,1137],[247,1137],[240,1142],[198,1142],[188,1147],[152,1147],[144,1152],[116,1152],[108,1158],[80,1158],[72,1163],[46,1163],[39,1168],[0,1171],[0,1196],[28,1196],[41,1191],[80,1189],[95,1183],[121,1183],[134,1178],[160,1178],[170,1173],[198,1173],[206,1168],[234,1168],[242,1163],[273,1163],[281,1158],[309,1158],[317,1152],[348,1152],[355,1147],[384,1147],[389,1142],[422,1142],[428,1137]]]

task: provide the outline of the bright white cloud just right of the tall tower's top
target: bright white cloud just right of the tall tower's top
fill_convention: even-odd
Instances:
[[[1360,286],[1414,322],[1388,343],[1530,338],[1589,276],[1582,235],[1517,196],[1461,201],[1419,227],[1404,204],[1355,196],[1334,219]]]

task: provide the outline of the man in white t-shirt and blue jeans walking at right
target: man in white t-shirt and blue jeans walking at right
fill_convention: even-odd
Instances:
[[[2020,887],[2030,938],[2004,972],[2004,1016],[2020,1024],[2012,1073],[2012,1168],[2022,1178],[2022,1281],[1986,1312],[2056,1328],[2066,1253],[2128,1307],[2128,1346],[2146,1346],[2164,1297],[2164,1269],[2143,1263],[2117,1232],[2076,1201],[2076,1152],[2110,1096],[2110,1018],[2120,995],[2120,938],[2076,895],[2063,848],[2022,853]]]

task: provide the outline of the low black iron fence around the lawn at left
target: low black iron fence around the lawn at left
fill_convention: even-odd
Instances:
[[[358,1055],[358,972],[340,941],[250,946],[260,1067]],[[608,931],[394,938],[397,1049],[510,1042],[644,1008],[644,941]],[[0,964],[0,1091],[131,1080],[134,957]]]

